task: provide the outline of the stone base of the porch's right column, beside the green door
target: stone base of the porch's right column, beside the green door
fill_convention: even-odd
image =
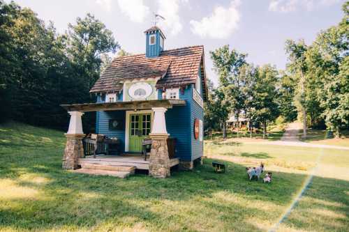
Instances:
[[[168,134],[149,134],[152,139],[149,157],[149,176],[166,178],[170,176],[170,157],[168,156]]]

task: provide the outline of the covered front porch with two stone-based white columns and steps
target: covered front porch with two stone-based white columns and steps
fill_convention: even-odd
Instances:
[[[117,172],[132,173],[135,169],[149,170],[149,175],[154,177],[170,176],[170,168],[179,164],[179,158],[172,157],[169,146],[170,134],[166,130],[165,111],[173,106],[183,107],[186,105],[185,100],[142,100],[134,102],[103,102],[91,104],[62,105],[70,114],[70,125],[66,133],[67,144],[64,153],[63,168],[78,169],[76,172],[81,173],[101,173],[112,174]],[[82,115],[87,111],[102,112],[121,112],[121,114],[111,114],[112,121],[108,125],[115,124],[115,131],[119,136],[107,134],[108,141],[118,141],[124,146],[121,154],[110,155],[107,150],[106,155],[96,156],[85,153],[87,143],[84,132],[82,132]],[[123,121],[124,118],[124,121]],[[107,122],[107,121],[103,121]],[[118,125],[121,125],[118,127]],[[105,134],[105,133],[101,133]],[[151,139],[151,149],[149,160],[144,160],[144,156],[130,155],[123,152],[141,152],[139,148],[145,139]],[[82,143],[84,140],[84,143]],[[108,142],[109,143],[109,142]],[[93,154],[97,149],[105,149],[110,144],[101,144],[96,142],[93,146]],[[170,149],[169,149],[170,148]],[[174,153],[174,152],[173,152]],[[87,155],[87,156],[85,156]],[[90,155],[90,154],[89,154]],[[81,169],[80,169],[81,167]],[[80,170],[79,170],[80,169]],[[97,170],[97,171],[96,171]],[[126,170],[126,171],[125,171]],[[86,172],[84,172],[86,171]]]

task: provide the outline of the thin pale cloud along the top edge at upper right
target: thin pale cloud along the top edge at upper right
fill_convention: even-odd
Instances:
[[[288,13],[297,10],[297,8],[313,10],[315,6],[331,6],[338,2],[339,0],[271,0],[269,2],[269,10]]]

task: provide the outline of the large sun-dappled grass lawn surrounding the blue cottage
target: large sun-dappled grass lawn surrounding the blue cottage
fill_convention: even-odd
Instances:
[[[318,158],[318,150],[208,141],[205,149],[222,157],[226,173],[214,173],[205,159],[194,171],[173,171],[167,179],[119,179],[62,170],[64,143],[63,132],[0,125],[0,231],[266,231]],[[328,150],[322,164],[346,174],[347,153]],[[260,161],[273,171],[270,185],[246,180],[245,166]],[[328,175],[316,174],[280,231],[348,229],[348,172],[346,178]]]

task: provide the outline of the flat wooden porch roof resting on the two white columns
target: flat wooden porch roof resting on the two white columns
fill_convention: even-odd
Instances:
[[[102,102],[102,103],[82,103],[61,105],[67,111],[112,111],[112,110],[135,110],[151,109],[153,107],[165,107],[167,109],[173,106],[185,106],[185,100],[140,100],[132,102]]]

